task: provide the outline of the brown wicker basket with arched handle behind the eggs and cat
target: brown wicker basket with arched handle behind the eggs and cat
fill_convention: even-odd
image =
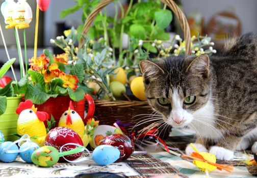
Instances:
[[[183,32],[184,32],[184,38],[186,41],[186,54],[191,54],[191,36],[190,36],[190,29],[189,25],[186,19],[186,16],[184,13],[179,9],[179,7],[172,1],[172,0],[161,0],[164,4],[166,4],[177,16]],[[113,2],[113,0],[103,0],[101,1],[97,7],[89,14],[82,34],[87,34],[90,28],[90,25],[92,24],[94,18],[96,15],[105,8],[108,4]],[[81,38],[81,41],[79,43],[79,48],[82,47],[84,38]],[[107,101],[107,100],[96,100],[95,101],[95,116],[99,118],[101,121],[101,124],[107,124],[112,125],[115,121],[120,120],[122,123],[133,123],[137,124],[140,120],[138,120],[139,117],[135,117],[139,114],[151,114],[153,113],[153,110],[148,105],[147,102],[142,101]],[[153,114],[149,115],[149,117],[152,117]],[[144,118],[147,118],[146,115],[143,115]],[[138,127],[136,127],[137,130],[144,129],[145,127],[149,126],[150,122],[141,124]],[[166,129],[166,128],[165,128]],[[165,130],[164,129],[164,130]],[[160,129],[162,130],[162,128]],[[162,137],[168,136],[169,132],[162,132],[160,135]]]

